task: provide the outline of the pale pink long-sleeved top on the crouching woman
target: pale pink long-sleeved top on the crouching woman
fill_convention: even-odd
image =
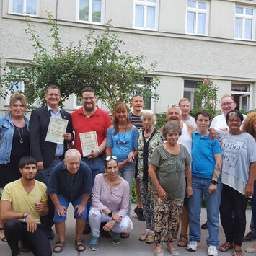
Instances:
[[[122,178],[118,187],[112,188],[105,182],[103,174],[96,175],[92,188],[92,206],[100,211],[110,209],[125,217],[129,206],[129,184]]]

